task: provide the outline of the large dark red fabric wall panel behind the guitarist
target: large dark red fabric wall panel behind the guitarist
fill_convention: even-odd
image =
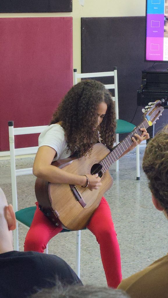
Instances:
[[[0,18],[0,150],[15,127],[46,125],[73,85],[72,17]],[[17,136],[16,147],[37,144]]]

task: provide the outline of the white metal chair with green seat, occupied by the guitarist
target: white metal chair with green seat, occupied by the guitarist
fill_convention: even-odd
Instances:
[[[41,133],[47,127],[47,125],[14,128],[13,121],[9,121],[8,126],[9,126],[10,166],[11,166],[11,181],[12,181],[12,202],[13,202],[13,209],[16,214],[16,220],[17,220],[16,229],[13,231],[13,238],[14,238],[13,244],[14,244],[14,250],[19,250],[18,222],[29,229],[31,222],[33,220],[36,206],[24,208],[18,211],[16,176],[33,174],[33,168],[16,169],[15,156],[24,155],[24,154],[34,154],[37,152],[38,146],[15,149],[15,143],[14,143],[15,136],[24,135],[24,134]],[[62,232],[70,232],[70,230],[63,229]],[[80,237],[81,237],[81,231],[76,231],[76,269],[75,271],[78,277],[80,277],[80,239],[81,239]],[[48,245],[46,247],[45,252],[48,253]]]

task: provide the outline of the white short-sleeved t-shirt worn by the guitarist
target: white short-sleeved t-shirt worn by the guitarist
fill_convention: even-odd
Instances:
[[[71,155],[70,150],[67,153],[67,142],[65,140],[64,129],[59,124],[51,124],[38,137],[38,147],[49,146],[56,150],[57,156],[53,161],[68,158]]]

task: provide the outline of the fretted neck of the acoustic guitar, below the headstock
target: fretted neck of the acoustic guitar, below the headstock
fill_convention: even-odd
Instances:
[[[145,119],[141,124],[134,128],[134,130],[127,135],[125,139],[123,139],[115,148],[104,158],[101,160],[100,164],[102,166],[102,172],[105,173],[109,167],[116,162],[123,153],[127,151],[127,149],[132,145],[132,137],[134,134],[138,134],[139,136],[142,134],[141,128],[148,128],[149,124]]]

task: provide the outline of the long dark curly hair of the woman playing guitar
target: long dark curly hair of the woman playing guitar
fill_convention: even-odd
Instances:
[[[96,127],[98,105],[107,104],[103,121]],[[50,124],[61,122],[68,148],[72,154],[82,157],[90,153],[98,142],[98,131],[102,143],[112,148],[115,134],[115,105],[110,91],[96,80],[82,80],[65,95]],[[95,128],[95,129],[94,129]]]

